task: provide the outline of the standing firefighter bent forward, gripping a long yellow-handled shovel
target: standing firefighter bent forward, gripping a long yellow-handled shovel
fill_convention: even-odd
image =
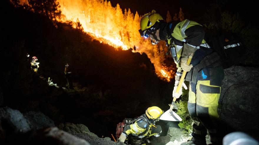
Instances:
[[[142,17],[139,32],[142,37],[150,37],[153,45],[161,40],[166,42],[177,66],[173,97],[179,98],[182,94],[182,88],[179,93],[176,88],[182,71],[188,72],[185,79],[190,81],[188,110],[194,124],[192,139],[182,145],[206,145],[207,131],[213,144],[222,144],[217,108],[224,71],[220,56],[204,40],[202,25],[188,19],[166,23],[153,10]],[[193,57],[187,65],[189,55]]]

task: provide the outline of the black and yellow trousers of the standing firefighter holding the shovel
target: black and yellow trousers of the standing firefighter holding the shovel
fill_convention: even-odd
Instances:
[[[208,131],[213,144],[222,144],[217,109],[223,78],[220,66],[202,69],[197,74],[197,83],[190,82],[188,110],[194,122],[192,137],[198,142],[205,141]]]

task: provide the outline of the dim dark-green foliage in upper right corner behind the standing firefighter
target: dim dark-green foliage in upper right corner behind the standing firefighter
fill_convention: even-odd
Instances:
[[[233,37],[239,40],[244,46],[244,54],[247,59],[243,65],[258,67],[257,56],[259,50],[258,24],[253,20],[255,16],[254,6],[235,3],[232,8],[227,7],[231,1],[221,1],[214,4],[207,10],[205,15],[205,29],[207,33],[224,37]],[[249,9],[249,11],[243,11]]]

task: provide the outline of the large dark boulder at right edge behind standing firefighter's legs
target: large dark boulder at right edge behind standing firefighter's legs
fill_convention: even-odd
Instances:
[[[259,129],[259,69],[232,66],[225,69],[218,113],[229,132],[257,137]]]

